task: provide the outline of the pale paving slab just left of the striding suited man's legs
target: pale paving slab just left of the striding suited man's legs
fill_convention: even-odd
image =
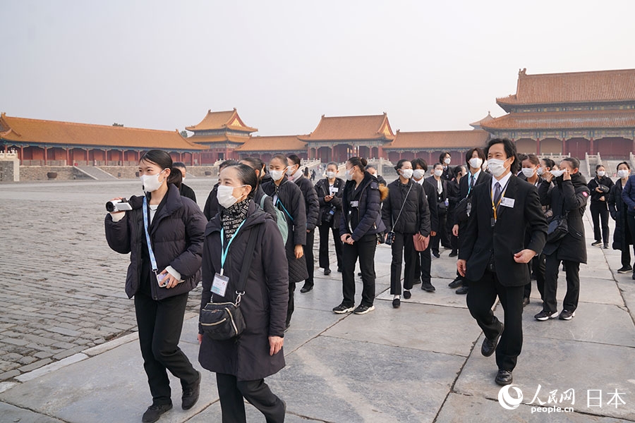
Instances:
[[[407,302],[394,309],[381,301],[375,302],[375,311],[349,315],[322,335],[466,357],[480,334],[473,321],[466,309]]]

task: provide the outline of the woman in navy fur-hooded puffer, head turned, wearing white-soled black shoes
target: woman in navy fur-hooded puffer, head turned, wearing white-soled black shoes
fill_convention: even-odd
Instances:
[[[346,185],[341,198],[339,233],[342,245],[341,304],[336,314],[366,314],[375,309],[375,249],[386,227],[382,222],[381,203],[388,189],[375,176],[364,171],[366,159],[351,157],[346,161]],[[380,192],[380,190],[382,190]],[[359,258],[362,274],[362,300],[355,306],[355,264]],[[353,309],[354,308],[354,309]]]

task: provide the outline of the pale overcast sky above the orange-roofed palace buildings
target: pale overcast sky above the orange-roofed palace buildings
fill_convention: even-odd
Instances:
[[[528,74],[635,68],[635,1],[0,0],[0,111],[257,135],[320,116],[461,130]]]

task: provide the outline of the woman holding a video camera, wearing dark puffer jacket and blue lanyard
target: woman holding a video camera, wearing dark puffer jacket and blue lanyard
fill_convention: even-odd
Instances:
[[[179,338],[188,293],[200,279],[205,216],[195,202],[181,197],[174,185],[181,173],[172,168],[167,152],[146,152],[139,173],[146,197],[131,197],[132,209],[107,214],[105,226],[108,245],[130,253],[126,294],[135,298],[143,367],[152,393],[143,421],[155,422],[172,407],[166,369],[181,379],[184,410],[198,400],[200,373],[179,348]]]

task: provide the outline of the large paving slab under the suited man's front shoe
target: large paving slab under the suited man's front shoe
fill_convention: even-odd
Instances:
[[[481,335],[476,345],[483,342]],[[619,345],[579,341],[555,341],[524,336],[523,352],[514,370],[514,386],[521,389],[524,403],[531,402],[541,386],[538,398],[546,403],[549,392],[575,391],[578,412],[635,420],[635,349]],[[500,386],[495,384],[497,367],[494,357],[483,357],[475,348],[459,375],[454,391],[469,396],[497,400]],[[607,406],[610,392],[617,389],[626,404]],[[600,390],[603,407],[588,407],[589,390]],[[536,402],[537,404],[537,402]],[[591,403],[593,405],[593,402]],[[566,405],[568,406],[568,405]]]

